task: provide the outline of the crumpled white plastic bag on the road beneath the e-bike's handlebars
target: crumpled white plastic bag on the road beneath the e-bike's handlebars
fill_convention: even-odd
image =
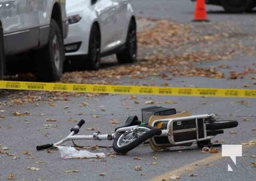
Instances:
[[[92,153],[86,150],[78,151],[74,147],[58,146],[58,150],[63,159],[106,157],[105,153]]]

